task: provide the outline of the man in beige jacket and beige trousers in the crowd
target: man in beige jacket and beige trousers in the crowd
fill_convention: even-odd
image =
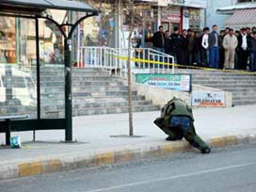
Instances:
[[[231,28],[229,34],[225,36],[222,45],[225,49],[225,64],[224,69],[234,69],[234,54],[237,47],[237,38],[233,35],[233,29]]]

